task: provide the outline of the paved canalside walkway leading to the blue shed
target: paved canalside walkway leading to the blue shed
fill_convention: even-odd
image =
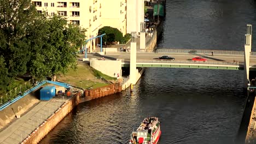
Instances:
[[[9,127],[0,132],[0,143],[21,143],[70,98],[59,96],[49,101],[40,101],[25,115],[16,119]]]

